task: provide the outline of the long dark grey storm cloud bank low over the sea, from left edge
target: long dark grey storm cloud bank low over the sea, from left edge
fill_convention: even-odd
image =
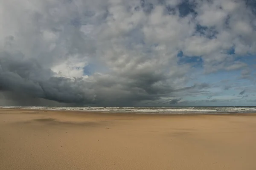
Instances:
[[[167,85],[155,84],[165,80],[162,74],[132,73],[126,75],[128,78],[95,75],[93,81],[52,77],[53,72],[36,60],[20,59],[8,53],[1,54],[0,71],[2,91],[64,103],[118,105],[156,100],[160,94],[174,91]]]

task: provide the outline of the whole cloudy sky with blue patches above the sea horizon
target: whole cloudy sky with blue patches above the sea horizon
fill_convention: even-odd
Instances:
[[[1,0],[2,106],[256,105],[255,0]]]

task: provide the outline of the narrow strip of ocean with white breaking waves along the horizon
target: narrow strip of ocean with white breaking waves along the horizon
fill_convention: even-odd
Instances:
[[[96,112],[119,112],[119,113],[160,113],[160,114],[188,114],[188,113],[256,113],[256,106],[247,107],[19,107],[5,106],[1,108],[23,108],[37,110],[59,111],[96,111]]]

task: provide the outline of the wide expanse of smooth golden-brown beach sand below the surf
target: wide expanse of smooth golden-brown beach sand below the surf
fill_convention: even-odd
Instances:
[[[0,109],[1,170],[256,170],[256,114]]]

